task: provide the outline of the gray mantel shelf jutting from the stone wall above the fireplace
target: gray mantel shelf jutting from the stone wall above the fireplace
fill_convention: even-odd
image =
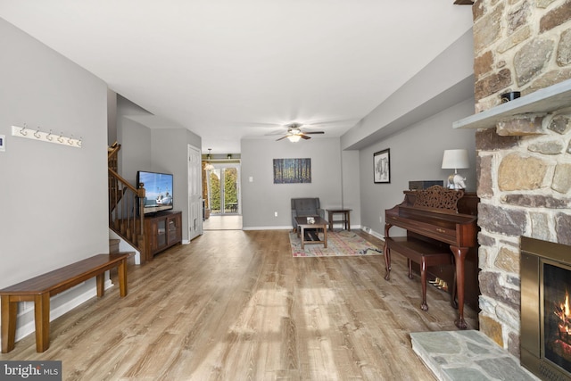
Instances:
[[[452,128],[495,128],[501,121],[571,108],[571,79],[452,123]]]

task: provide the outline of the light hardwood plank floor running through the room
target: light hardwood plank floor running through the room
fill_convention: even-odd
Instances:
[[[29,335],[0,360],[62,360],[64,380],[434,380],[409,334],[456,330],[456,311],[434,287],[420,310],[401,255],[384,276],[382,255],[293,258],[285,230],[208,231],[54,320],[46,352]]]

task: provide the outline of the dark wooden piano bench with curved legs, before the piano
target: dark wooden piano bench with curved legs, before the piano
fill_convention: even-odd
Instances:
[[[422,304],[420,304],[420,309],[428,311],[428,304],[426,304],[426,268],[453,264],[454,257],[450,249],[438,244],[430,244],[411,236],[385,237],[386,280],[390,279],[392,250],[407,257],[410,279],[412,279],[411,261],[420,265],[420,283],[422,285]]]

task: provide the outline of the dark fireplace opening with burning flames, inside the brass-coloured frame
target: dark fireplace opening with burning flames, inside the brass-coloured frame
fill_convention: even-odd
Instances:
[[[545,358],[571,373],[571,270],[543,263],[543,347]]]

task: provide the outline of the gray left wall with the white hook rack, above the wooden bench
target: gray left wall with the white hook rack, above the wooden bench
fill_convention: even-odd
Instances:
[[[4,287],[109,253],[107,86],[2,19],[0,36],[0,134],[6,137],[6,151],[0,153]],[[81,137],[83,147],[12,137],[11,126],[24,123]],[[95,283],[89,285],[95,295]],[[54,298],[53,308],[59,303]]]

